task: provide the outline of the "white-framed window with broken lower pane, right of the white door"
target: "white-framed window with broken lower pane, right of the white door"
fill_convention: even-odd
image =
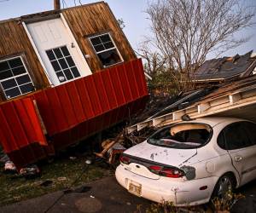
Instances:
[[[122,56],[109,33],[89,37],[89,39],[103,66],[107,67],[123,62]]]

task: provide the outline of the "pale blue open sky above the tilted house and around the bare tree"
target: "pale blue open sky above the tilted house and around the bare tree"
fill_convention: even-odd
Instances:
[[[53,0],[0,0],[0,20],[53,9],[53,2]],[[61,7],[62,2],[61,0]],[[79,0],[65,0],[65,8],[74,6],[74,2],[79,5]],[[80,2],[93,3],[100,1],[81,0]],[[137,49],[139,43],[143,41],[143,37],[150,35],[150,21],[145,13],[148,7],[148,0],[105,0],[105,2],[109,4],[117,19],[122,18],[125,21],[125,35],[133,49]],[[256,7],[255,0],[244,0],[244,2]],[[256,23],[256,16],[253,21]],[[251,37],[249,42],[243,43],[236,49],[230,49],[224,55],[232,56],[237,53],[241,55],[252,49],[256,52],[256,25],[237,33],[237,37],[247,36]],[[210,55],[209,57],[213,56]]]

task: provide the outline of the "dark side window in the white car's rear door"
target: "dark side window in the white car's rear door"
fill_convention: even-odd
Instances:
[[[239,149],[252,146],[251,140],[247,135],[245,122],[236,122],[224,128],[225,148],[228,150]],[[218,141],[221,143],[221,141]],[[222,141],[223,143],[223,141]]]

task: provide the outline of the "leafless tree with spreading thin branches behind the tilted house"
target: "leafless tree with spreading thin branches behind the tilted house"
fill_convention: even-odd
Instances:
[[[241,3],[238,0],[152,1],[147,14],[153,37],[143,42],[139,55],[151,66],[157,59],[158,67],[154,71],[171,73],[179,90],[193,88],[195,70],[209,53],[217,56],[247,42],[249,37],[237,39],[236,32],[253,25],[254,11]]]

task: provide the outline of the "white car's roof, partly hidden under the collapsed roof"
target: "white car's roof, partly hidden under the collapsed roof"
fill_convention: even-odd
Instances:
[[[202,123],[202,124],[208,124],[214,127],[217,124],[221,124],[221,123],[231,124],[238,121],[246,121],[246,120],[241,118],[230,118],[230,117],[203,117],[203,118],[196,118],[195,120],[185,121],[183,123]]]

